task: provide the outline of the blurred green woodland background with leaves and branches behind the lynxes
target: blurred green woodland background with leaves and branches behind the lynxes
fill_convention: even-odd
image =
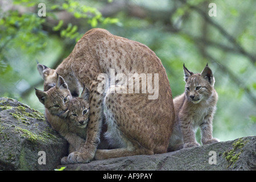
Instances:
[[[46,16],[39,16],[39,3]],[[210,3],[216,16],[209,16]],[[174,97],[184,92],[183,63],[194,73],[208,63],[219,96],[214,137],[255,135],[255,7],[254,0],[0,0],[0,96],[43,113],[34,92],[43,89],[36,60],[56,68],[86,31],[106,28],[156,53]]]

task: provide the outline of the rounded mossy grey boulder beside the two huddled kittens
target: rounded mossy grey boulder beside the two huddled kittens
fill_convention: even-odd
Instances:
[[[39,151],[46,152],[46,164],[39,164]],[[67,141],[44,114],[0,97],[0,170],[53,170],[67,153]]]

